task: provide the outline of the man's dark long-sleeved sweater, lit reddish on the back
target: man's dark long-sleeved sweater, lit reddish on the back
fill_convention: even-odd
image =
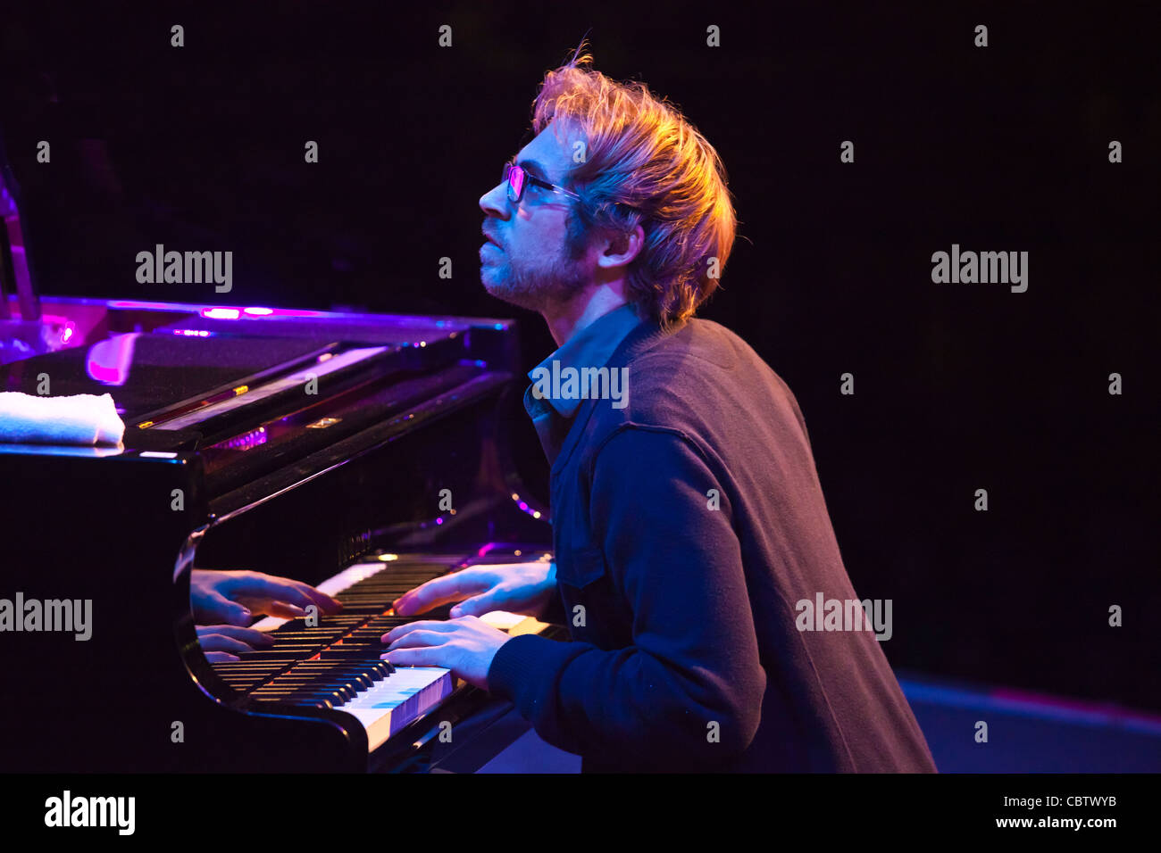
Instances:
[[[632,328],[626,366],[553,464],[572,642],[509,641],[490,688],[586,772],[935,771],[874,634],[796,627],[857,597],[786,384],[700,319]]]

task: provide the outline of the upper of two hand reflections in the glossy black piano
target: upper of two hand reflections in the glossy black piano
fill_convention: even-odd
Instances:
[[[194,569],[189,578],[194,621],[245,626],[255,613],[282,619],[304,616],[304,607],[333,614],[342,605],[309,584],[262,572],[219,572]]]

